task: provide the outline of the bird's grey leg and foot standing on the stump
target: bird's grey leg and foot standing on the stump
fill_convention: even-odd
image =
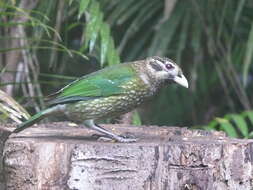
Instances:
[[[122,142],[122,143],[130,143],[130,142],[136,142],[136,138],[126,138],[126,137],[121,137],[119,135],[113,134],[110,131],[107,131],[106,129],[100,127],[99,125],[95,124],[93,120],[86,120],[84,122],[84,125],[87,126],[90,129],[93,129],[95,131],[98,131],[105,136],[109,137],[110,139],[116,140],[117,142]]]

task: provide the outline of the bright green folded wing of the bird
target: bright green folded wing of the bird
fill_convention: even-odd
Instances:
[[[125,93],[122,85],[137,76],[131,64],[119,64],[86,75],[54,94],[49,104],[70,103],[80,100]]]

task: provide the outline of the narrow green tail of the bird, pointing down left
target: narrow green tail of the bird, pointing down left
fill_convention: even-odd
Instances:
[[[44,119],[45,117],[47,117],[51,113],[57,112],[57,111],[59,111],[58,106],[45,109],[45,110],[35,114],[34,116],[32,116],[29,120],[18,125],[17,128],[12,133],[19,133],[20,131],[23,131],[24,129],[32,126],[33,124],[37,123],[38,121]]]

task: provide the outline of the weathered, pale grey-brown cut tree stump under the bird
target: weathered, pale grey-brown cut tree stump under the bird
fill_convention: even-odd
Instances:
[[[103,125],[136,143],[99,142],[67,122],[37,125],[0,142],[7,190],[251,189],[252,140],[178,127]],[[13,128],[1,127],[2,142]],[[1,188],[2,189],[2,188]]]

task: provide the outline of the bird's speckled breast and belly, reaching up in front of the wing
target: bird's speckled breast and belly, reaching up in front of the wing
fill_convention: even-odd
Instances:
[[[149,87],[139,79],[129,81],[121,87],[124,89],[121,94],[67,105],[66,115],[80,122],[114,117],[131,111],[153,95]]]

